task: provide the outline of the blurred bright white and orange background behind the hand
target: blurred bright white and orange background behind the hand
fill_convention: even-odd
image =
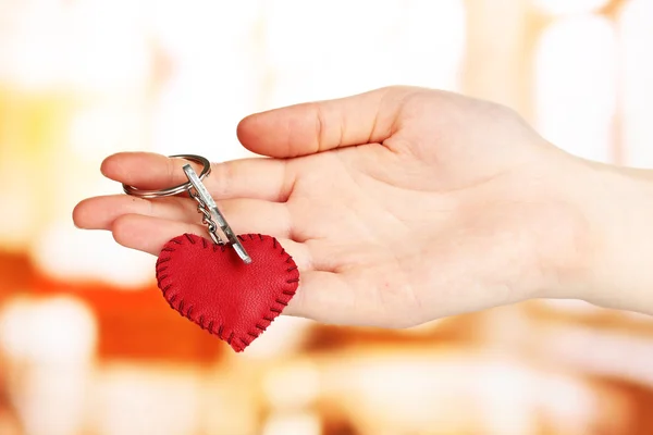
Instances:
[[[71,220],[121,191],[110,153],[241,158],[249,113],[393,84],[652,167],[652,23],[651,0],[0,0],[0,434],[652,434],[653,319],[282,318],[235,355],[168,307],[155,258]]]

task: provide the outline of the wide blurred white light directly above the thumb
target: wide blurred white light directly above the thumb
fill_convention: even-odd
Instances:
[[[303,16],[289,22],[288,17]],[[465,48],[460,0],[270,3],[270,105],[410,84],[455,89]],[[373,24],[372,24],[373,23]],[[337,28],[337,32],[333,32]]]

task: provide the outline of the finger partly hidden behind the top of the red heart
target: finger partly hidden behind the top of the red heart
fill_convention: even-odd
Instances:
[[[118,217],[113,222],[111,231],[113,238],[120,245],[157,257],[161,252],[161,249],[163,249],[163,246],[178,235],[188,233],[207,237],[206,226],[140,214],[125,214]],[[311,257],[306,245],[285,238],[278,239],[293,257],[299,271],[311,270]]]

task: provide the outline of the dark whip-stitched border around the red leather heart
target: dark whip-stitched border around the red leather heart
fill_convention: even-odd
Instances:
[[[186,313],[184,313],[184,300],[182,299],[178,302],[177,307],[174,307],[173,303],[176,300],[177,295],[173,295],[171,298],[169,298],[167,296],[172,287],[172,284],[168,284],[167,286],[162,287],[163,279],[170,277],[170,275],[162,274],[168,269],[168,265],[161,266],[161,264],[163,264],[172,259],[172,257],[162,257],[163,252],[174,252],[176,250],[174,247],[171,247],[169,245],[171,245],[171,244],[183,245],[184,239],[186,239],[186,241],[195,245],[197,241],[196,238],[198,238],[198,237],[199,236],[197,236],[197,235],[185,233],[181,236],[177,236],[177,237],[171,239],[168,244],[165,244],[165,246],[161,250],[159,259],[157,260],[157,263],[156,263],[157,285],[158,285],[159,289],[161,290],[163,298],[170,304],[170,308],[175,310],[181,316],[190,320],[192,322],[197,324],[202,330],[208,331],[210,334],[217,335],[218,338],[220,338],[223,341],[226,341],[236,352],[242,352],[243,350],[245,350],[245,348],[247,346],[249,346],[256,338],[258,338],[270,326],[270,324],[274,321],[274,319],[276,319],[283,312],[284,308],[288,304],[289,300],[295,296],[295,293],[297,291],[297,288],[299,286],[298,266],[295,263],[295,261],[293,260],[293,258],[291,257],[291,254],[285,251],[285,249],[281,246],[281,244],[279,243],[279,240],[276,240],[275,237],[264,236],[261,234],[238,235],[237,237],[238,237],[238,239],[241,239],[241,241],[245,241],[247,238],[249,240],[255,240],[255,238],[258,238],[260,241],[264,241],[266,238],[269,238],[272,240],[272,249],[280,251],[281,256],[285,256],[285,263],[289,264],[288,268],[285,270],[285,273],[289,277],[286,279],[286,284],[288,285],[288,288],[283,289],[282,295],[287,297],[287,302],[281,300],[281,298],[278,297],[274,300],[273,304],[270,307],[269,313],[263,315],[261,321],[257,322],[255,324],[254,331],[247,331],[246,336],[239,336],[239,337],[235,337],[234,332],[231,331],[231,332],[229,332],[229,337],[225,338],[224,337],[224,334],[225,334],[224,325],[220,324],[218,326],[218,331],[215,331],[214,321],[210,321],[209,324],[206,325],[204,315],[200,315],[199,319],[194,319],[192,315],[194,306],[187,307],[187,311],[186,311]],[[214,245],[212,243],[207,244],[206,243],[207,240],[204,237],[199,237],[199,238],[202,240],[204,249],[208,249],[209,247],[212,247],[211,249],[213,250],[213,252],[217,251],[217,248],[218,248],[217,245]],[[224,245],[220,246],[220,248],[221,248],[222,252],[224,252],[224,250],[225,250]],[[294,277],[295,275],[296,275],[296,277]]]

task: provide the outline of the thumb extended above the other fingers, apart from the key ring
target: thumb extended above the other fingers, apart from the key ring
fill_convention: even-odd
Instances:
[[[391,87],[252,114],[238,124],[238,139],[248,150],[275,158],[383,142],[392,135],[402,100],[415,91]]]

